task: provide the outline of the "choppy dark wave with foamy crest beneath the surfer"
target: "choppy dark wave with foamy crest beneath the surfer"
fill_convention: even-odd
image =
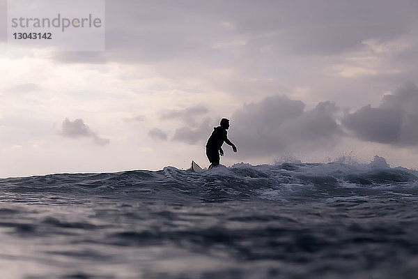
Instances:
[[[0,191],[54,199],[96,195],[109,199],[328,201],[334,199],[415,199],[418,172],[389,167],[376,156],[369,164],[277,163],[220,165],[203,172],[164,167],[100,174],[49,174],[0,179]]]

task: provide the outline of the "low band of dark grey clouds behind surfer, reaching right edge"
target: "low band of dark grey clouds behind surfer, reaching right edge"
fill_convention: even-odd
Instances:
[[[183,110],[188,112],[191,109]],[[231,116],[229,138],[240,158],[263,158],[292,152],[331,151],[343,137],[392,146],[418,145],[418,87],[405,84],[384,96],[379,107],[366,105],[353,113],[331,101],[305,110],[301,100],[270,96],[243,105]],[[183,115],[183,114],[181,114]],[[173,141],[204,144],[219,119],[206,117],[196,127],[178,128]]]

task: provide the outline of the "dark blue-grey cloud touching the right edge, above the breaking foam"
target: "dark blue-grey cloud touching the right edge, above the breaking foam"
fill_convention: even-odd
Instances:
[[[413,146],[418,144],[418,88],[406,84],[379,107],[367,105],[342,119],[342,124],[362,140]]]

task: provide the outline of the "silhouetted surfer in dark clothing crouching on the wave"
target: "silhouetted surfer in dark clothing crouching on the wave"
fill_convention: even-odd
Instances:
[[[235,144],[228,140],[226,133],[226,130],[228,129],[229,120],[226,118],[221,120],[220,126],[213,128],[212,135],[210,135],[208,143],[206,144],[206,156],[208,156],[210,162],[209,169],[219,165],[219,153],[221,156],[224,156],[224,151],[222,150],[222,144],[224,144],[224,142],[232,146],[232,151],[237,151]]]

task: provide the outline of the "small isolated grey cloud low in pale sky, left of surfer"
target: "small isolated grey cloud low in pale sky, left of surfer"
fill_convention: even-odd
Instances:
[[[109,144],[109,139],[104,137],[99,137],[94,133],[83,121],[83,119],[75,119],[75,121],[70,121],[70,119],[65,118],[62,123],[62,130],[60,133],[63,137],[70,138],[79,138],[79,137],[90,137],[93,139],[93,142],[98,145]]]

